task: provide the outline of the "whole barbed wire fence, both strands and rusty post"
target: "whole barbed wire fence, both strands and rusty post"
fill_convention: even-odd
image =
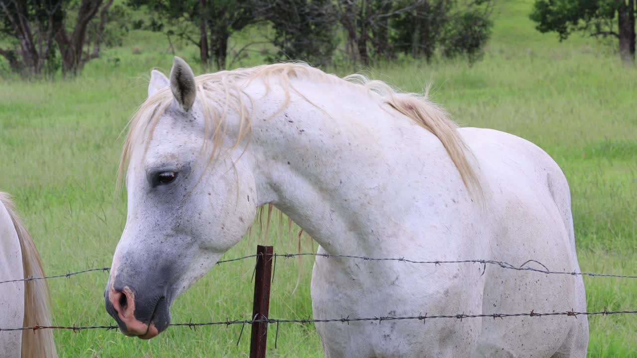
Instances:
[[[225,321],[217,321],[217,322],[187,322],[187,323],[171,323],[169,326],[173,327],[189,327],[190,329],[196,329],[196,327],[201,326],[231,326],[240,324],[241,331],[239,334],[239,338],[237,341],[237,345],[240,343],[241,336],[243,335],[243,328],[246,324],[251,325],[253,327],[253,345],[256,344],[259,346],[260,350],[262,350],[261,355],[254,355],[255,357],[264,357],[265,354],[265,343],[266,343],[266,333],[267,326],[270,324],[276,325],[276,340],[278,340],[278,327],[279,324],[287,324],[287,323],[300,323],[300,324],[314,324],[314,323],[338,323],[341,324],[349,324],[350,322],[383,322],[383,321],[394,321],[394,320],[420,320],[423,324],[426,324],[427,320],[431,319],[455,319],[455,320],[463,320],[463,319],[476,319],[476,318],[490,318],[490,319],[505,319],[511,317],[546,317],[546,316],[568,316],[568,317],[577,317],[579,315],[589,316],[589,315],[615,315],[615,314],[637,314],[637,310],[603,310],[603,311],[561,311],[561,312],[535,312],[531,310],[530,312],[523,313],[480,313],[480,314],[465,314],[465,313],[457,313],[453,315],[429,315],[429,313],[425,313],[422,315],[418,313],[417,315],[404,316],[404,317],[396,317],[396,316],[383,316],[378,315],[375,317],[339,317],[339,318],[331,318],[331,319],[274,319],[268,317],[268,306],[269,306],[269,283],[274,280],[274,276],[276,273],[276,259],[283,258],[289,259],[292,257],[303,257],[303,256],[311,256],[311,257],[323,257],[326,259],[355,259],[362,261],[393,261],[393,262],[404,262],[405,264],[424,264],[424,265],[434,265],[439,266],[443,264],[480,264],[482,266],[482,273],[480,275],[484,275],[487,270],[487,266],[495,266],[500,269],[511,269],[515,271],[532,271],[535,273],[543,273],[545,275],[573,275],[573,276],[590,276],[590,277],[615,277],[615,278],[637,278],[637,275],[617,275],[610,273],[591,273],[591,272],[580,272],[580,271],[551,271],[540,261],[530,259],[526,262],[522,263],[520,266],[515,266],[508,262],[504,261],[495,261],[495,260],[487,260],[487,259],[469,259],[469,260],[434,260],[434,261],[417,261],[413,259],[405,259],[404,257],[368,257],[368,256],[359,256],[359,255],[341,255],[341,254],[319,254],[319,253],[297,253],[297,254],[275,254],[272,252],[272,247],[262,247],[259,245],[257,254],[255,255],[246,255],[243,257],[238,257],[236,259],[227,259],[218,261],[217,265],[227,264],[229,262],[243,261],[247,259],[255,259],[255,269],[253,272],[253,280],[256,276],[255,282],[255,299],[254,299],[254,312],[252,319],[244,319],[244,320],[225,320]],[[266,259],[269,257],[269,260]],[[261,265],[260,265],[261,263]],[[272,264],[274,264],[274,268],[271,268]],[[537,266],[541,266],[541,268],[534,268],[529,266],[529,264],[536,264]],[[61,277],[70,277],[74,275],[80,275],[83,273],[89,273],[94,271],[110,271],[110,268],[90,268],[84,269],[81,271],[68,272],[60,275],[52,275],[52,276],[43,276],[43,277],[27,277],[27,278],[17,278],[14,280],[5,280],[0,281],[0,284],[3,283],[12,283],[12,282],[29,282],[33,280],[48,280],[51,278],[61,278]],[[259,285],[259,281],[261,285],[267,283],[267,292],[259,292],[257,294],[257,285]],[[267,299],[266,299],[267,297]],[[264,299],[267,302],[264,302]],[[261,304],[265,304],[265,314],[264,307],[259,306],[257,308],[257,301],[260,300]],[[117,329],[117,325],[108,325],[108,326],[32,326],[32,327],[1,327],[0,326],[0,334],[3,331],[38,331],[40,329],[63,329],[63,330],[71,330],[73,332],[83,331],[86,329]],[[255,329],[261,331],[256,334],[255,337]],[[259,340],[259,337],[261,339]],[[257,339],[257,343],[254,340]],[[262,340],[262,341],[261,341]],[[275,340],[275,347],[276,347]],[[261,349],[262,348],[262,349]],[[251,352],[252,352],[251,345]],[[253,356],[253,355],[251,355]]]

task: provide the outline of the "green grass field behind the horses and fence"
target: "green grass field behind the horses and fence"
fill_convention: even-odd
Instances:
[[[571,185],[582,270],[634,275],[637,69],[622,66],[605,43],[577,36],[559,43],[534,31],[530,8],[530,0],[498,6],[493,38],[473,66],[405,60],[366,71],[410,91],[433,82],[434,99],[462,124],[512,132],[547,150]],[[120,132],[145,99],[150,69],[168,73],[166,47],[162,36],[132,32],[123,47],[106,50],[74,80],[0,83],[0,190],[15,196],[47,273],[110,266],[126,211],[124,196],[115,194]],[[196,53],[177,48],[186,59]],[[254,55],[236,65],[260,61]],[[353,70],[329,69],[340,75]],[[243,240],[225,257],[251,254],[254,241]],[[294,248],[284,240],[275,250]],[[213,268],[173,304],[173,322],[247,319],[253,268],[252,261]],[[290,296],[296,261],[278,262],[271,317],[311,317],[310,259],[302,270]],[[98,272],[50,280],[54,324],[110,324],[106,279]],[[591,311],[637,309],[636,280],[587,277],[585,284]],[[637,317],[591,317],[589,324],[589,357],[637,357]],[[61,357],[237,357],[247,355],[248,328],[238,347],[241,326],[172,327],[151,341],[115,331],[57,331],[55,340]],[[318,334],[311,325],[282,325],[278,348],[271,340],[268,355],[320,357]]]

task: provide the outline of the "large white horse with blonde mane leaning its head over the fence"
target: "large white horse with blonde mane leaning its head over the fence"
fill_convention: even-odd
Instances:
[[[362,76],[304,64],[194,77],[152,72],[120,173],[127,222],[105,299],[152,338],[169,306],[274,204],[319,253],[528,259],[578,271],[566,178],[540,148],[458,129],[444,110]],[[585,310],[580,276],[472,264],[318,257],[315,319]],[[327,357],[584,357],[586,317],[317,323]]]

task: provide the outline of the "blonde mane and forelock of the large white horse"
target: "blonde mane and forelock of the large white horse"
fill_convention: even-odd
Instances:
[[[467,159],[468,148],[464,145],[458,126],[450,120],[447,111],[438,104],[429,101],[427,91],[425,94],[404,93],[392,88],[385,82],[369,80],[362,75],[350,75],[344,78],[327,74],[320,69],[313,68],[303,63],[282,63],[256,66],[253,68],[240,68],[233,71],[220,71],[195,78],[197,86],[197,98],[201,110],[203,110],[204,147],[210,142],[213,145],[210,161],[221,147],[221,141],[225,132],[226,117],[230,111],[238,113],[240,119],[239,134],[234,146],[240,145],[250,134],[251,120],[250,108],[252,99],[243,89],[253,80],[262,79],[269,90],[269,78],[276,78],[278,84],[285,90],[285,100],[279,110],[284,110],[290,101],[290,91],[302,97],[309,103],[303,94],[294,88],[292,79],[310,80],[320,83],[350,85],[359,90],[366,91],[375,97],[380,103],[389,106],[409,117],[420,127],[433,133],[441,141],[447,150],[450,159],[458,169],[465,187],[472,192],[481,192],[478,176],[471,168]],[[246,101],[246,99],[248,99]],[[118,185],[124,179],[125,171],[130,161],[132,147],[135,143],[144,143],[152,138],[155,126],[161,115],[173,101],[173,94],[169,88],[164,88],[149,97],[133,115],[129,123],[129,132],[124,141],[122,157],[118,170]],[[216,105],[215,105],[216,104]],[[313,103],[311,103],[313,104]],[[318,106],[317,106],[318,107]],[[278,114],[278,113],[277,113]],[[276,115],[276,114],[275,114]],[[211,140],[210,140],[211,138]],[[148,148],[148,142],[146,146]]]

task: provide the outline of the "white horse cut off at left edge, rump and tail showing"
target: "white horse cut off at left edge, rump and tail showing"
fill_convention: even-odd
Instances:
[[[10,197],[0,192],[0,281],[41,276],[38,250]],[[50,326],[49,306],[44,280],[0,283],[0,328]],[[50,329],[2,331],[0,357],[57,357],[53,333]]]

